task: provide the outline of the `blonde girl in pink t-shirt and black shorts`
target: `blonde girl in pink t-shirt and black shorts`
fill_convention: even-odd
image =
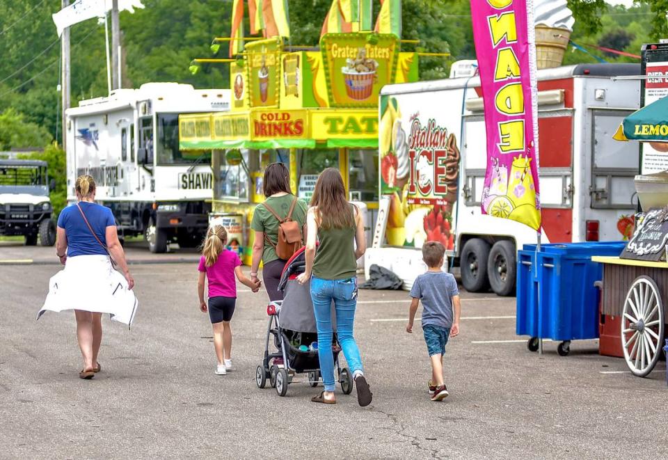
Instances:
[[[225,248],[228,232],[223,225],[212,224],[207,231],[207,239],[200,257],[200,278],[197,292],[200,296],[200,310],[209,312],[214,328],[214,348],[218,357],[216,375],[225,375],[232,369],[232,328],[230,321],[237,303],[237,282],[250,287],[253,292],[260,290],[260,281],[253,283],[241,271],[241,260],[237,253]],[[204,301],[204,280],[209,284],[209,305]]]

